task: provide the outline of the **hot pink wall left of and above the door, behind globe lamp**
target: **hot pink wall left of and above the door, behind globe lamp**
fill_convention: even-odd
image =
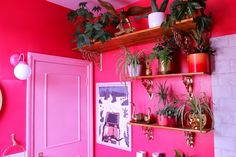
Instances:
[[[72,52],[68,10],[42,0],[0,1],[0,87],[3,108],[0,112],[0,156],[11,144],[11,133],[25,145],[26,81],[13,75],[9,63],[15,52],[28,51],[79,58]]]

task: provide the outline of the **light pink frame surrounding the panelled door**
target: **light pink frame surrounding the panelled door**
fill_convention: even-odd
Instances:
[[[88,157],[94,155],[94,143],[93,143],[93,66],[92,63],[86,60],[52,56],[39,54],[34,52],[28,52],[28,63],[31,67],[31,77],[27,79],[26,89],[26,156],[34,156],[34,81],[35,81],[35,63],[37,61],[42,62],[55,62],[60,64],[72,64],[78,66],[86,66],[87,68],[87,119],[88,119]]]

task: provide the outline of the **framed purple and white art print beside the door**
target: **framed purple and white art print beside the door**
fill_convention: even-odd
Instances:
[[[131,83],[96,84],[97,143],[131,151]]]

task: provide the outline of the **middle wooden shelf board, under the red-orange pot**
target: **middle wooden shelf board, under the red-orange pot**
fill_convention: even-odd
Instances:
[[[176,74],[159,74],[159,75],[150,75],[150,76],[135,76],[128,77],[128,80],[138,80],[138,79],[152,79],[152,78],[162,78],[162,77],[177,77],[177,76],[195,76],[195,75],[205,75],[208,73],[205,72],[196,72],[196,73],[176,73]]]

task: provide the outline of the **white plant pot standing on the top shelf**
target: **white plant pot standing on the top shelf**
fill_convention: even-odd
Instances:
[[[149,28],[161,26],[162,22],[165,20],[165,13],[154,12],[148,15],[148,26]]]

